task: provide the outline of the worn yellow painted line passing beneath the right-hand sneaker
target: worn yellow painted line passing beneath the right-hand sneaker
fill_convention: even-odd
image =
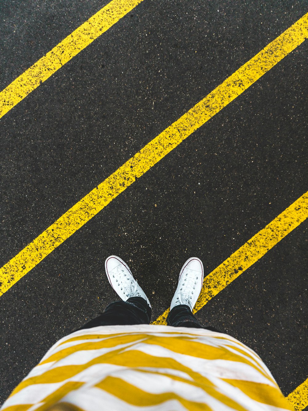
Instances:
[[[225,289],[245,270],[264,256],[287,234],[294,230],[308,217],[308,192],[294,201],[285,211],[274,218],[264,229],[242,245],[229,258],[213,270],[203,281],[202,290],[193,312],[197,312],[211,298]],[[167,309],[153,324],[166,324]]]

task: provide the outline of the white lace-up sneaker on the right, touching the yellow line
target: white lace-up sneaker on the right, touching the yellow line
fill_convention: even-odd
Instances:
[[[179,284],[172,298],[170,310],[176,305],[188,305],[191,311],[198,300],[203,283],[203,264],[197,257],[189,258],[179,274]]]

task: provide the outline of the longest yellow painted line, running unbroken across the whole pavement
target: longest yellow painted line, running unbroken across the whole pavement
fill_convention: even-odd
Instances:
[[[0,269],[0,296],[308,37],[308,13],[65,212]]]

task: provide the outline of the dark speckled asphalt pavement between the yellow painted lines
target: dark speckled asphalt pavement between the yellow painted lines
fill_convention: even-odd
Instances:
[[[0,86],[107,1],[0,2]],[[0,120],[0,263],[307,12],[303,1],[144,0]],[[57,339],[117,295],[124,259],[153,306],[211,272],[308,189],[308,40],[0,297],[0,404]],[[308,222],[196,316],[254,349],[285,395],[308,376]]]

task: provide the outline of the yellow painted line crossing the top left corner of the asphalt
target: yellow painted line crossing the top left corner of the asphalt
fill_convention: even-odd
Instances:
[[[112,0],[0,92],[0,118],[143,0]]]

